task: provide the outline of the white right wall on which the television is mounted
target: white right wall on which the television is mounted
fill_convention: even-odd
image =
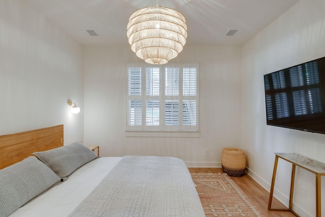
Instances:
[[[274,152],[297,152],[325,163],[325,135],[266,125],[263,80],[264,74],[325,56],[324,11],[323,0],[301,0],[243,46],[241,147],[247,154],[249,173],[267,190]],[[275,195],[288,203],[290,164],[279,160],[278,170]],[[302,187],[307,188],[306,198],[301,195]],[[298,170],[294,203],[301,216],[315,216],[312,173]],[[324,207],[323,202],[323,216]]]

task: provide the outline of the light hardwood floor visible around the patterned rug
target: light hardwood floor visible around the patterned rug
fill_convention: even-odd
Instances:
[[[222,173],[221,168],[188,168],[190,173]],[[261,210],[265,217],[292,217],[295,216],[289,211],[269,211],[269,192],[259,185],[246,173],[242,177],[232,177],[232,180],[244,192],[244,194]],[[285,208],[277,199],[273,198],[272,207]]]

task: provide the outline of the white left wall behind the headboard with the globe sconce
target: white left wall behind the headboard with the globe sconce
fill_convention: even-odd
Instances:
[[[0,1],[0,135],[63,124],[68,144],[83,139],[83,112],[82,46],[21,1]]]

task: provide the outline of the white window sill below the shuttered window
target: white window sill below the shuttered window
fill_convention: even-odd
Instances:
[[[125,131],[125,137],[181,137],[198,138],[200,131]]]

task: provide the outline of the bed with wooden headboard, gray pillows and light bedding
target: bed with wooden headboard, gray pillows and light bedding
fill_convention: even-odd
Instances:
[[[0,217],[205,216],[185,163],[98,157],[63,126],[0,136]]]

